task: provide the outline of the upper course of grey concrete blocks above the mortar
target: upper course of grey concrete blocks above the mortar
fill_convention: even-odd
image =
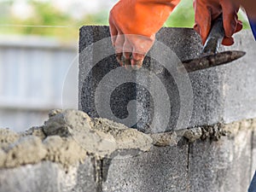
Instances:
[[[192,29],[185,28],[162,28],[156,38],[158,42],[148,52],[143,64],[148,72],[123,75],[119,70],[117,75],[113,71],[119,64],[114,58],[108,26],[83,26],[79,41],[79,109],[92,117],[113,119],[144,132],[172,131],[256,117],[256,87],[253,86],[256,82],[256,66],[253,65],[256,44],[248,31],[236,35],[234,46],[222,48],[246,51],[247,55],[241,60],[180,77],[169,73],[160,60],[170,61],[166,58],[169,49],[176,54],[170,54],[171,69],[177,57],[182,61],[196,57],[201,51],[200,38]],[[96,46],[101,39],[104,39],[101,46]],[[160,43],[166,44],[168,50]],[[85,73],[88,70],[90,72]],[[163,88],[154,84],[154,75],[160,79]],[[181,79],[182,85],[178,82]],[[102,85],[102,81],[105,84]],[[117,81],[124,81],[124,84],[115,84]],[[104,88],[96,97],[98,87]],[[154,91],[150,88],[160,96],[156,100],[160,100],[159,105],[164,109],[155,106]],[[106,94],[108,90],[112,92]],[[170,117],[166,115],[168,102]],[[99,108],[103,112],[99,113]]]

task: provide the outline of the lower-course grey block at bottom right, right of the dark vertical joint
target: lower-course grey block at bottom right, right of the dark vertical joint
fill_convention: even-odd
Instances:
[[[224,137],[218,143],[197,141],[189,146],[189,191],[247,191],[252,177],[252,131]]]

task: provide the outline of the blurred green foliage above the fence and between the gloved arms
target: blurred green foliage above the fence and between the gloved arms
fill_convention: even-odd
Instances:
[[[50,2],[36,0],[29,1],[34,14],[26,20],[22,20],[9,14],[9,8],[14,2],[13,0],[0,3],[0,33],[53,36],[69,41],[79,38],[80,26],[108,25],[108,10],[99,11],[93,15],[84,15],[78,20],[68,13],[61,12]],[[193,27],[194,9],[192,3],[192,0],[182,0],[166,20],[164,26]],[[239,16],[243,20],[244,28],[248,28],[247,20],[241,14]]]

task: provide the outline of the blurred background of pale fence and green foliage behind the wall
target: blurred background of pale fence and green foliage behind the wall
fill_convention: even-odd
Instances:
[[[69,69],[78,67],[79,27],[108,25],[116,2],[0,0],[0,128],[24,131],[53,108],[77,108],[78,70]],[[164,26],[192,27],[192,2],[182,0]]]

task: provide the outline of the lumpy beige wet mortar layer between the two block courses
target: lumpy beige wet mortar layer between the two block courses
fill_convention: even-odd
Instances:
[[[98,159],[119,154],[143,153],[154,146],[176,145],[181,137],[194,142],[222,136],[236,137],[241,129],[256,129],[256,119],[229,125],[207,125],[181,131],[144,134],[108,119],[90,119],[78,110],[53,110],[40,127],[16,133],[0,129],[0,168],[36,164],[42,160],[60,163],[64,168],[87,156]]]

